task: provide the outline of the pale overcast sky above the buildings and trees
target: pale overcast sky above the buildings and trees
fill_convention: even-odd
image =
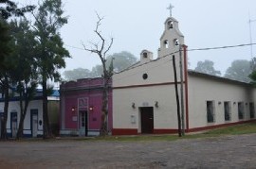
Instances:
[[[30,2],[33,0],[30,0]],[[84,50],[82,42],[94,42],[96,12],[104,17],[101,31],[106,39],[114,38],[109,54],[128,51],[139,58],[143,49],[157,57],[159,38],[169,17],[167,7],[174,6],[173,17],[185,36],[189,49],[249,43],[250,19],[256,19],[255,0],[64,0],[68,24],[61,30],[72,59],[66,59],[65,70],[91,69],[100,59]],[[252,42],[256,42],[256,22],[251,23]],[[89,43],[87,43],[89,46]],[[256,54],[256,46],[253,46]],[[223,73],[233,59],[250,59],[250,47],[189,52],[190,68],[198,60],[210,59]],[[255,55],[254,55],[255,56]]]

